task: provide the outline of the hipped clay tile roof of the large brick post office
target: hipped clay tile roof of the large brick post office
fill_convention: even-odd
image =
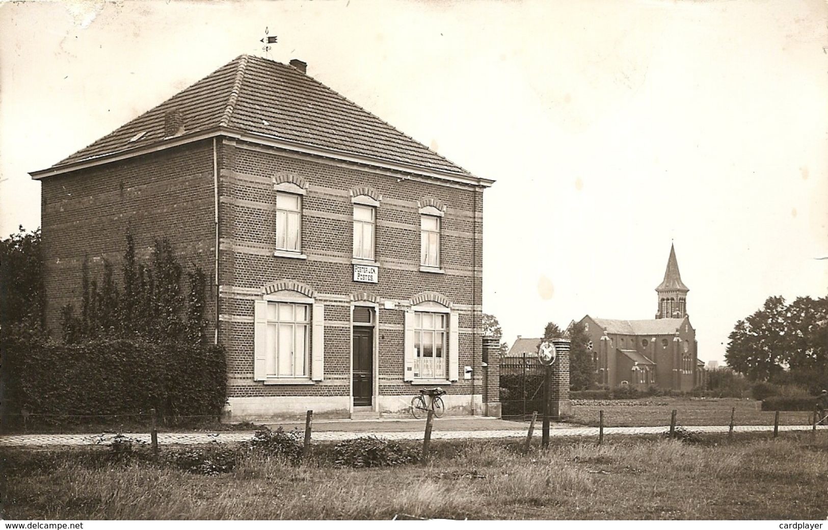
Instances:
[[[252,55],[238,56],[55,166],[158,142],[164,138],[165,115],[171,110],[183,114],[185,132],[220,126],[415,169],[470,176],[309,75]]]

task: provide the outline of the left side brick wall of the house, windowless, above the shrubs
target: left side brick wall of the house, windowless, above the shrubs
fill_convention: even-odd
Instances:
[[[46,326],[60,333],[60,308],[80,308],[81,267],[101,278],[113,263],[119,287],[126,234],[136,257],[148,263],[154,238],[169,238],[185,270],[208,277],[206,317],[215,321],[214,181],[212,142],[50,176],[41,181]]]

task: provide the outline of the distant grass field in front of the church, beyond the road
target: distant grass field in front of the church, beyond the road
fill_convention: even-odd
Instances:
[[[574,416],[568,421],[598,425],[604,411],[605,426],[659,426],[670,424],[676,409],[681,426],[729,425],[730,412],[736,408],[736,425],[773,425],[773,411],[760,410],[761,402],[736,398],[647,397],[642,399],[575,402]],[[780,425],[807,425],[810,412],[779,412]]]

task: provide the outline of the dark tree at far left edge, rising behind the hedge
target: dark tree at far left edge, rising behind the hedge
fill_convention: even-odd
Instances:
[[[0,241],[0,329],[43,325],[43,258],[41,229]]]

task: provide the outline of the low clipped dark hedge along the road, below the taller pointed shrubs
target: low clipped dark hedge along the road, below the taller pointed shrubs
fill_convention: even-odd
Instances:
[[[219,416],[226,399],[224,349],[136,339],[7,344],[4,405],[12,414]],[[60,422],[55,417],[54,422]],[[64,420],[68,418],[63,418]]]

